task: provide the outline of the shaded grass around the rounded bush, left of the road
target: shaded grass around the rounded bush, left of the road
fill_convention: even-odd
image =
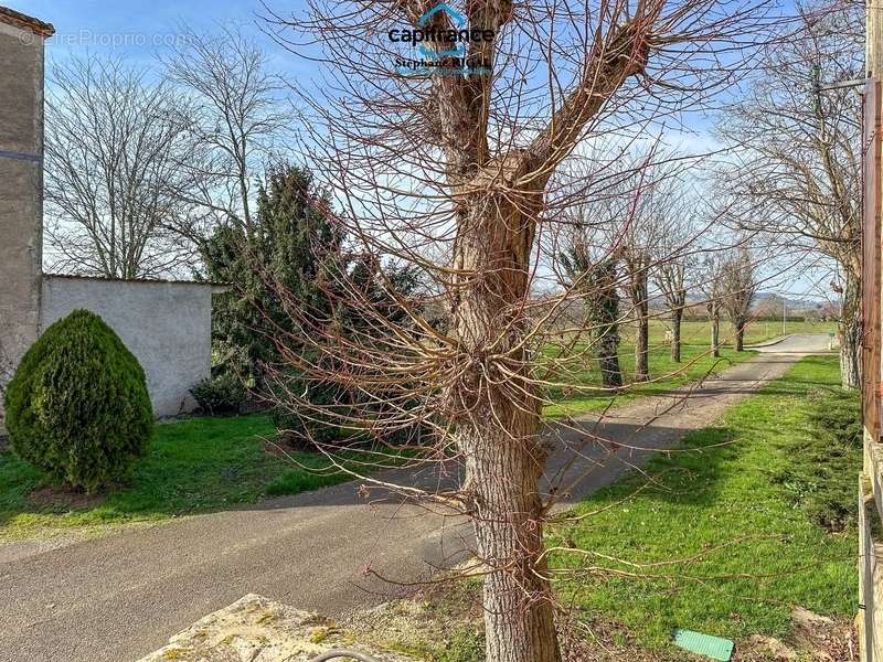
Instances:
[[[255,503],[262,495],[292,494],[349,480],[320,455],[267,452],[262,438],[275,428],[267,416],[191,418],[158,425],[129,485],[96,500],[36,502],[44,474],[12,452],[0,453],[0,540],[54,530],[164,520]],[[358,455],[351,456],[353,460]]]

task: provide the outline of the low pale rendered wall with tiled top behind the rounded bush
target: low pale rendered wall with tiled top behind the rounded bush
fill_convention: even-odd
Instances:
[[[41,333],[77,308],[99,314],[138,357],[156,416],[195,406],[189,389],[211,370],[212,286],[44,276]]]

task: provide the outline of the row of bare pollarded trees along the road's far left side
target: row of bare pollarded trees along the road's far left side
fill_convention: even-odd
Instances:
[[[635,381],[650,378],[653,298],[664,301],[671,360],[680,363],[681,325],[688,308],[706,309],[713,356],[720,355],[722,312],[733,324],[736,351],[742,351],[757,290],[747,239],[733,237],[715,245],[703,241],[713,212],[706,210],[706,218],[701,218],[701,205],[683,180],[689,171],[680,164],[672,168],[671,157],[659,163],[648,158],[636,159],[615,183],[606,182],[605,195],[578,205],[557,239],[562,285],[585,292],[585,322],[594,329],[592,343],[605,386],[624,383],[619,324],[626,320],[635,327]],[[621,233],[618,237],[617,232]]]

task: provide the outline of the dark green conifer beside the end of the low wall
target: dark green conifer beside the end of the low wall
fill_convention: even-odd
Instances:
[[[213,349],[223,365],[258,387],[265,367],[279,361],[276,343],[299,337],[298,316],[287,306],[331,316],[326,288],[332,270],[342,268],[344,236],[329,209],[309,170],[283,166],[259,188],[251,227],[219,227],[203,247],[208,278],[231,284],[214,301]]]

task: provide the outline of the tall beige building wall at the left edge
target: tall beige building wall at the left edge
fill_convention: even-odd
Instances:
[[[43,38],[0,20],[0,387],[38,332],[42,154]]]

